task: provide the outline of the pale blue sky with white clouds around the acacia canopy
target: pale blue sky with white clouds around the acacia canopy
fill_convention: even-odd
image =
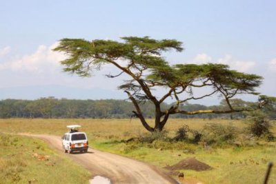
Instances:
[[[110,99],[102,90],[114,91],[120,83],[103,76],[112,68],[91,79],[71,76],[61,72],[63,57],[51,48],[65,37],[150,36],[184,43],[184,52],[166,54],[172,64],[226,63],[264,76],[259,91],[276,96],[275,7],[276,1],[0,0],[0,88],[19,90],[10,96],[17,99],[24,98],[19,87],[38,85],[101,89],[101,98]],[[55,87],[50,93],[59,96]]]

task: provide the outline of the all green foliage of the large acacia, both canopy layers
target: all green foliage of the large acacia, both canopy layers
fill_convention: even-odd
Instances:
[[[212,85],[220,92],[226,92],[228,97],[232,98],[237,93],[255,92],[255,88],[262,81],[262,76],[229,70],[228,65],[222,64],[171,66],[164,57],[161,57],[161,54],[170,49],[178,52],[184,50],[182,43],[174,39],[156,40],[150,37],[122,37],[121,39],[123,42],[61,39],[54,50],[68,55],[68,59],[61,61],[64,71],[80,76],[90,76],[90,72],[95,68],[99,69],[102,64],[115,65],[131,78],[130,83],[127,82],[120,88],[134,90],[133,86],[139,86],[139,90],[143,90],[148,98],[152,95],[148,89],[155,85],[185,89],[193,86],[193,82],[202,80],[205,80],[202,87],[210,81],[208,85]],[[121,65],[118,63],[119,60],[124,61],[125,64]],[[145,71],[148,74],[145,75]],[[134,84],[135,81],[136,84]],[[141,84],[141,81],[144,84]]]

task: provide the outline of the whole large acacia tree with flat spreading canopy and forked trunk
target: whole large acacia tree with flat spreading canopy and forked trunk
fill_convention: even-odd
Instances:
[[[231,113],[262,108],[266,98],[260,98],[255,107],[233,108],[230,103],[237,94],[255,94],[255,88],[262,83],[262,76],[245,74],[230,70],[223,64],[177,64],[170,65],[162,54],[168,50],[181,52],[182,43],[175,39],[155,40],[149,37],[122,37],[122,42],[110,40],[61,39],[55,51],[65,53],[68,58],[61,61],[65,72],[79,76],[90,76],[103,64],[111,64],[120,70],[117,75],[126,74],[119,89],[128,94],[135,106],[134,115],[150,132],[161,131],[171,114]],[[164,88],[165,93],[157,97],[155,90]],[[208,88],[206,94],[196,96],[193,90]],[[204,99],[207,96],[220,94],[228,105],[227,110],[181,110],[182,103],[190,100]],[[175,100],[173,105],[161,109],[161,104],[168,98]],[[144,118],[140,101],[150,101],[155,106],[155,125],[152,127]]]

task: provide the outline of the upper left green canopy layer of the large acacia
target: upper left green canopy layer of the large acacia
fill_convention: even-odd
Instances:
[[[69,58],[61,61],[65,72],[73,72],[80,76],[90,76],[92,69],[100,68],[101,64],[124,59],[135,63],[133,68],[167,65],[159,57],[161,52],[174,48],[183,50],[181,42],[164,39],[157,41],[149,37],[122,37],[124,43],[110,40],[85,41],[83,39],[61,39],[55,51],[65,52]],[[145,53],[145,54],[141,54]]]

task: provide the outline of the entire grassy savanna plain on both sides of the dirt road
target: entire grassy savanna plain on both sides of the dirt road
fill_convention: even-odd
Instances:
[[[154,120],[148,122],[153,124]],[[175,178],[184,172],[190,181],[263,183],[268,162],[276,163],[276,142],[248,136],[244,133],[248,123],[242,120],[169,119],[164,132],[150,134],[137,119],[0,119],[0,183],[59,183],[60,176],[63,183],[87,183],[90,173],[70,158],[39,139],[17,135],[62,136],[66,125],[73,124],[81,125],[88,134],[90,147],[150,163]],[[271,121],[271,125],[271,132],[276,134],[276,122]],[[195,140],[201,133],[208,137]],[[187,158],[213,169],[164,169]],[[268,183],[276,183],[275,167]]]

